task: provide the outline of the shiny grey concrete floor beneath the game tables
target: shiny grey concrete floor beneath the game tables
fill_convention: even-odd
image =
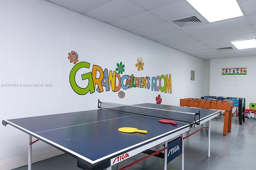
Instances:
[[[211,157],[207,156],[208,138],[205,129],[185,139],[185,170],[256,169],[254,162],[256,161],[256,120],[246,118],[245,123],[239,125],[238,117],[233,116],[232,132],[229,132],[227,136],[222,135],[223,122],[224,115],[211,121]],[[156,148],[162,149],[161,147],[162,145],[159,145]],[[112,170],[118,170],[145,156],[147,155],[140,153],[112,166]],[[63,154],[32,164],[32,170],[80,170],[76,166],[76,161],[72,156]],[[152,156],[127,170],[163,170],[163,164],[162,158]],[[22,166],[15,170],[27,168],[27,166]],[[181,155],[168,163],[168,170],[170,169],[181,169]]]

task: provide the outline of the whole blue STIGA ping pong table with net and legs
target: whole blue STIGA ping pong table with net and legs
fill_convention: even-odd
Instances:
[[[29,135],[28,170],[31,169],[32,137],[77,158],[83,170],[111,170],[111,166],[144,150],[180,136],[182,170],[184,170],[184,133],[208,122],[208,156],[210,156],[210,121],[221,111],[162,104],[132,106],[98,101],[99,109],[2,120]],[[171,119],[178,125],[160,123]],[[120,127],[136,127],[148,133],[123,133]],[[164,152],[164,170],[167,151]]]

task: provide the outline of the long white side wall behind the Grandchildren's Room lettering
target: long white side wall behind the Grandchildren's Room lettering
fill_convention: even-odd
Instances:
[[[1,120],[97,109],[98,98],[123,104],[155,103],[160,94],[162,104],[178,106],[180,98],[200,98],[205,94],[204,60],[44,0],[0,1],[0,6]],[[171,74],[172,93],[132,88],[124,90],[123,99],[112,91],[78,95],[69,82],[74,64],[69,62],[68,53],[72,50],[79,54],[79,62],[91,64],[89,69],[81,69],[80,75],[92,71],[94,64],[114,71],[116,63],[122,61],[128,75]],[[138,71],[135,64],[141,57],[144,70]],[[190,70],[195,70],[195,81],[190,80]],[[77,79],[81,79],[80,75]],[[52,87],[23,87],[23,84],[52,84]],[[0,133],[0,169],[4,169],[6,162],[27,155],[28,135],[10,125],[1,125]],[[33,145],[33,153],[49,149],[52,147],[41,141]],[[20,163],[12,163],[6,169],[14,166]]]

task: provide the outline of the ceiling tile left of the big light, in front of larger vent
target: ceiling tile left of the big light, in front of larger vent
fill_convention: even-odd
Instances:
[[[181,10],[182,9],[182,10]],[[160,6],[149,10],[163,20],[175,20],[196,14],[194,8],[190,7],[187,2],[179,0],[165,6]]]

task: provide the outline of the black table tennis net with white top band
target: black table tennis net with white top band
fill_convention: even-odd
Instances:
[[[98,108],[132,113],[135,115],[157,117],[160,119],[182,121],[182,122],[192,123],[196,125],[200,124],[200,111],[199,113],[188,113],[188,112],[173,111],[173,110],[167,110],[167,109],[158,109],[158,108],[142,107],[142,106],[135,106],[135,105],[123,105],[123,104],[115,104],[115,103],[100,102],[100,101],[98,103]]]

